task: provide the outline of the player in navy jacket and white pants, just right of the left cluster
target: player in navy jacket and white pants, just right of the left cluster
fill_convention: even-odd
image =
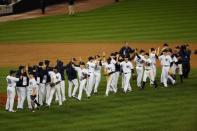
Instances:
[[[78,90],[79,84],[77,79],[77,72],[73,68],[72,64],[74,64],[76,61],[75,58],[72,58],[72,60],[66,65],[66,74],[68,77],[68,97],[76,97],[76,92]],[[74,89],[73,89],[74,85]]]

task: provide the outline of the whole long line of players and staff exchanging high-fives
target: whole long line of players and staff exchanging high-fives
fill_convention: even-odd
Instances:
[[[139,90],[144,90],[149,83],[158,88],[156,80],[157,63],[161,66],[160,85],[168,87],[188,78],[190,72],[191,50],[188,45],[177,46],[174,49],[168,44],[149,51],[132,49],[125,43],[119,52],[113,52],[109,57],[105,53],[89,57],[88,62],[71,58],[68,64],[57,60],[51,66],[49,60],[39,62],[34,66],[19,66],[17,71],[11,70],[7,80],[6,111],[15,112],[14,99],[17,93],[17,110],[24,109],[27,99],[28,109],[34,112],[41,106],[50,107],[53,99],[61,106],[66,101],[65,76],[68,80],[68,97],[82,100],[85,93],[89,99],[99,91],[102,71],[106,77],[105,96],[109,93],[131,92],[131,82],[137,80]],[[118,82],[121,83],[118,84]],[[149,81],[147,81],[149,80]],[[118,87],[120,85],[121,87]]]

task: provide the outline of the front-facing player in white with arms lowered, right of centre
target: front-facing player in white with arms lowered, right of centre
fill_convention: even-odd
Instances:
[[[129,61],[129,56],[124,57],[124,61],[120,63],[124,73],[124,93],[132,91],[130,79],[134,73],[133,64]]]

